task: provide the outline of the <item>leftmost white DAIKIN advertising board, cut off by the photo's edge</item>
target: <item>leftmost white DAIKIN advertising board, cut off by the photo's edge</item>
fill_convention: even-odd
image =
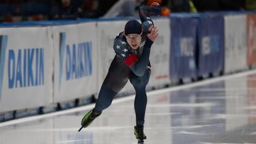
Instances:
[[[0,112],[53,100],[53,47],[48,27],[0,29]]]

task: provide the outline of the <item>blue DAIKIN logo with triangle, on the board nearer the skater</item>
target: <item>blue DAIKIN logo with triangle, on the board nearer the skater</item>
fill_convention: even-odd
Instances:
[[[91,47],[92,42],[66,44],[66,33],[59,33],[59,86],[63,71],[66,74],[66,81],[91,76]]]

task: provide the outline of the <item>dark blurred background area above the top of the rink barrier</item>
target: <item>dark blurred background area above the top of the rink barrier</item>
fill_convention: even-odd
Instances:
[[[153,1],[160,3],[163,16],[169,16],[171,12],[244,11],[256,8],[256,0],[1,0],[0,22],[134,16],[139,5],[150,5]],[[118,10],[128,11],[128,8],[134,12],[116,14]]]

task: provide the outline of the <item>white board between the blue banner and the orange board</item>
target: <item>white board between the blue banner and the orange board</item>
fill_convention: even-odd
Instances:
[[[225,73],[245,70],[246,14],[225,16]]]

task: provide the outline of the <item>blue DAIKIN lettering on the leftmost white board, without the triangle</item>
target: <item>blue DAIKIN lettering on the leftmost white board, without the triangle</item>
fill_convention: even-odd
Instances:
[[[44,48],[8,49],[8,88],[44,85]]]

